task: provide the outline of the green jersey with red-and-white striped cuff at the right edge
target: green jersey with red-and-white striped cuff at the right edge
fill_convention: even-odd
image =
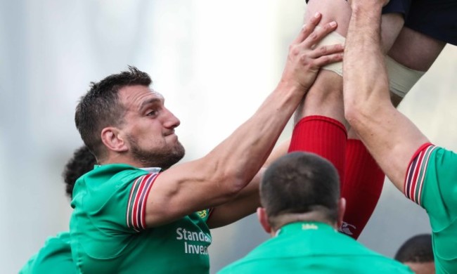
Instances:
[[[437,273],[457,273],[456,153],[422,145],[409,164],[404,193],[430,218]]]

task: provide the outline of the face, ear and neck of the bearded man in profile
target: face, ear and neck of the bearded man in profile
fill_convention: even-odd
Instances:
[[[124,161],[136,167],[169,167],[170,164],[164,159],[169,157],[167,155],[176,155],[181,159],[184,148],[174,133],[180,122],[165,107],[163,96],[141,85],[125,86],[120,89],[119,96],[127,110],[122,128],[107,127],[101,132],[103,143],[110,145],[110,150],[117,152],[112,153],[109,161]],[[130,144],[130,148],[124,141]],[[146,154],[150,152],[150,157],[124,157],[129,149],[142,150]],[[154,162],[157,158],[160,158],[160,162]]]

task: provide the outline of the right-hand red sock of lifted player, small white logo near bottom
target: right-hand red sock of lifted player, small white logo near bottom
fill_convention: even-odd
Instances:
[[[346,212],[340,230],[357,239],[375,210],[385,176],[359,140],[347,140],[345,164],[341,196],[346,199]]]

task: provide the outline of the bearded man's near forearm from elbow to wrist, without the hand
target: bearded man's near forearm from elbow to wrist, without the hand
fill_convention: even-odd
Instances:
[[[219,183],[243,188],[264,164],[278,136],[304,94],[302,87],[281,83],[259,110],[208,155]],[[233,183],[236,178],[237,183]]]

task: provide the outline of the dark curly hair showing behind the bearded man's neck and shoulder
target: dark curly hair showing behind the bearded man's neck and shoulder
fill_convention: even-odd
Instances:
[[[73,187],[75,187],[76,180],[94,169],[95,164],[97,164],[96,158],[86,145],[73,152],[73,157],[65,164],[62,173],[65,193],[70,199],[73,197]]]

